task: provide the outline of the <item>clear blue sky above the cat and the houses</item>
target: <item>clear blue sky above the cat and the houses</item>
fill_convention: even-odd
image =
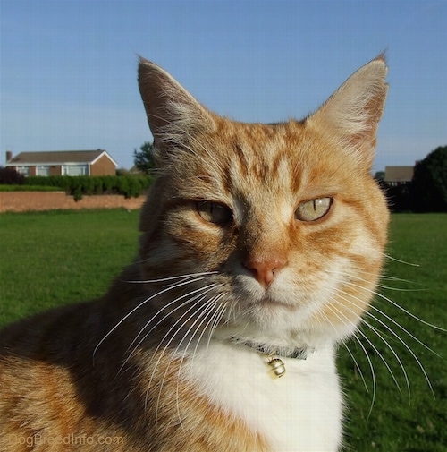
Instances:
[[[447,144],[447,0],[0,0],[0,165],[6,150],[151,141],[137,55],[207,107],[247,122],[302,118],[387,49],[374,170]]]

